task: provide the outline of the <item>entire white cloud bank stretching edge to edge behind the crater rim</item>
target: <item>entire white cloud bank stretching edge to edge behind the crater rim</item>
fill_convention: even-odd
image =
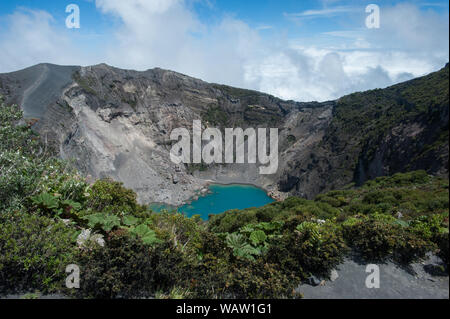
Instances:
[[[20,10],[8,17],[8,30],[0,36],[0,72],[39,62],[106,62],[137,70],[162,67],[284,99],[325,101],[438,70],[449,59],[448,15],[411,4],[382,7],[380,29],[364,27],[361,8],[360,28],[299,39],[281,32],[265,37],[232,16],[205,24],[184,0],[96,0],[95,5],[117,21],[101,52],[78,49],[48,13]],[[358,9],[342,8],[327,6],[322,13]],[[309,19],[323,17],[320,13],[294,15]]]

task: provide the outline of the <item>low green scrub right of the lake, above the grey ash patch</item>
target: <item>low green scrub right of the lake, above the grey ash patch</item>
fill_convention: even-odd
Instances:
[[[211,216],[209,229],[240,234],[249,226],[277,223],[276,232],[269,236],[273,237],[267,255],[256,254],[249,249],[253,247],[243,252],[250,259],[266,256],[284,267],[283,272],[291,271],[302,279],[310,273],[327,274],[349,249],[367,261],[400,263],[436,251],[448,265],[448,195],[448,180],[424,171],[399,173],[315,200],[292,197],[261,208]]]

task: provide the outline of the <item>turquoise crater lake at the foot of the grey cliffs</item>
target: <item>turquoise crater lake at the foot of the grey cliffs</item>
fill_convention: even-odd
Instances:
[[[177,211],[188,217],[200,215],[208,220],[210,214],[220,214],[230,209],[244,209],[261,207],[272,203],[266,192],[250,185],[211,185],[210,193],[190,204],[178,207]],[[150,206],[154,211],[161,211],[170,207],[154,204]]]

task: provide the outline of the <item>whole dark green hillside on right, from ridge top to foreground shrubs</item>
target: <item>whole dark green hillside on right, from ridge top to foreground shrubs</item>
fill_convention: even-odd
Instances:
[[[320,142],[287,160],[280,188],[312,198],[395,173],[448,177],[448,123],[448,63],[423,77],[341,97]]]

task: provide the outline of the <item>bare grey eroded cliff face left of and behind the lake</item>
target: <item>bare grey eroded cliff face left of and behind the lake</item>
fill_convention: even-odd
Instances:
[[[314,105],[301,110],[295,102],[161,69],[136,72],[107,65],[43,64],[1,79],[8,102],[20,104],[26,117],[38,119],[34,129],[54,143],[61,157],[73,160],[92,180],[111,177],[124,182],[147,203],[179,205],[210,181],[252,183],[277,190],[278,174],[260,175],[255,164],[199,169],[172,163],[173,129],[191,131],[194,120],[201,120],[203,129],[276,127],[281,149],[287,150],[294,147],[294,135],[299,145],[311,139],[317,123],[310,119],[330,108]],[[298,126],[305,119],[308,125]]]

